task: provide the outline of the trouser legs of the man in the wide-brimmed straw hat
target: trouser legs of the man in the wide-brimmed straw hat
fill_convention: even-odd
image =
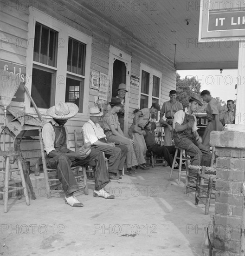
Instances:
[[[59,155],[53,158],[47,157],[46,162],[47,168],[57,169],[58,179],[62,184],[65,195],[78,191],[77,181],[71,167],[87,165],[92,167],[95,173],[96,190],[104,188],[110,182],[103,154],[99,150],[91,149],[90,155],[83,160],[68,157],[61,151]]]

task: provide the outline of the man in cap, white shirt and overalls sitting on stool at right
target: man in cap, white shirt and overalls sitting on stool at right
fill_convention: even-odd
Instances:
[[[201,99],[194,94],[187,108],[174,114],[174,142],[177,147],[186,150],[192,165],[210,166],[212,156],[209,149],[201,144],[202,139],[197,132],[196,117],[193,114],[198,106],[202,106]]]

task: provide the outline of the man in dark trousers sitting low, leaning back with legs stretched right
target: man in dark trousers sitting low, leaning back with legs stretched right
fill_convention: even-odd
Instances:
[[[147,150],[153,152],[157,156],[164,157],[168,165],[172,167],[174,161],[175,147],[174,146],[160,146],[155,141],[154,130],[156,128],[155,123],[148,122],[143,130],[143,135],[145,137],[145,142]],[[174,169],[179,169],[178,164],[175,163]]]

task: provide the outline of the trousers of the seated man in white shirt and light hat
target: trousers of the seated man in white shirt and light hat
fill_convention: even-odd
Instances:
[[[117,174],[122,171],[127,156],[127,147],[125,145],[116,145],[116,147],[92,145],[91,148],[102,151],[108,158],[108,171]]]

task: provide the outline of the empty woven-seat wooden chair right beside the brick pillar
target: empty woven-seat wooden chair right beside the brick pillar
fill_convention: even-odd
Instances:
[[[209,212],[210,200],[215,199],[216,170],[202,166],[197,174],[195,205],[200,202],[205,204],[205,215]],[[206,202],[202,200],[206,198]]]

